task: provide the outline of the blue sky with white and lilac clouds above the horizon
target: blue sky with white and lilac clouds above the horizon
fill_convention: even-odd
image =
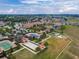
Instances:
[[[0,0],[0,14],[79,14],[79,0]]]

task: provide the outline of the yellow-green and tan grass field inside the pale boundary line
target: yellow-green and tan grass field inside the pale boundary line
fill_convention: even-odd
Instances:
[[[55,59],[69,41],[69,39],[57,39],[52,36],[47,40],[49,44],[48,49],[40,52],[39,54],[34,55],[30,51],[24,49],[14,54],[14,56],[16,59]]]

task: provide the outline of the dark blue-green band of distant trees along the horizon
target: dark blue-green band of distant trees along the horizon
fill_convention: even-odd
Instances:
[[[13,22],[24,22],[32,20],[40,20],[47,17],[52,18],[63,18],[63,17],[79,17],[78,14],[1,14],[0,21],[13,21]]]

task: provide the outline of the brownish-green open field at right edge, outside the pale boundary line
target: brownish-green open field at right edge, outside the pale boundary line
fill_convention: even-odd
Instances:
[[[79,27],[68,26],[65,33],[71,37],[73,42],[68,48],[68,53],[64,52],[59,59],[79,59]]]

